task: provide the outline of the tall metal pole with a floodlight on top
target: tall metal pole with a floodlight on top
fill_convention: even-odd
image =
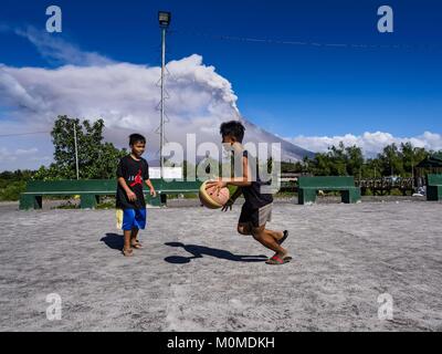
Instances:
[[[165,145],[165,71],[166,71],[166,31],[169,28],[171,13],[159,11],[158,21],[161,29],[161,102],[160,102],[160,125],[159,125],[159,160],[160,178],[164,177],[165,157],[162,147]]]

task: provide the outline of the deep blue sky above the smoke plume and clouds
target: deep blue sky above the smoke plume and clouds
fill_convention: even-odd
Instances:
[[[48,70],[65,64],[41,55],[27,38],[1,31],[44,30],[50,4],[63,10],[63,33],[53,37],[116,62],[149,66],[159,64],[157,11],[170,10],[168,60],[201,55],[231,83],[240,112],[283,137],[365,132],[413,137],[442,131],[442,3],[436,0],[2,0],[0,63]],[[382,4],[394,11],[393,33],[377,31]],[[2,119],[9,110],[0,102]]]

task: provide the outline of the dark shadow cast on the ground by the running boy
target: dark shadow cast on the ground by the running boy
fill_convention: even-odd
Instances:
[[[173,264],[189,263],[192,259],[203,258],[204,256],[210,256],[218,259],[225,259],[233,262],[264,262],[267,260],[267,257],[263,254],[260,256],[233,254],[232,252],[225,250],[220,250],[198,244],[183,244],[181,242],[167,242],[165,244],[170,247],[181,247],[187,252],[193,254],[192,257],[170,256],[165,258],[166,262]]]

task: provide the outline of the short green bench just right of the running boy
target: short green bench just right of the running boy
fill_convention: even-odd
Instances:
[[[346,204],[360,201],[360,188],[355,187],[354,177],[305,177],[298,179],[298,204],[316,201],[318,190],[340,191],[341,200]]]

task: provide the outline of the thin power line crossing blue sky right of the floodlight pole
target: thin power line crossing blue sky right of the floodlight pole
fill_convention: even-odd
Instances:
[[[364,43],[319,43],[309,41],[290,41],[290,40],[275,40],[263,38],[249,38],[235,35],[221,35],[210,34],[194,31],[170,31],[172,34],[183,34],[190,37],[202,37],[207,39],[234,41],[234,42],[249,42],[249,43],[264,43],[264,44],[280,44],[280,45],[298,45],[298,46],[314,46],[314,48],[350,48],[350,49],[394,49],[394,50],[411,50],[411,49],[442,49],[442,43],[435,44],[364,44]]]

